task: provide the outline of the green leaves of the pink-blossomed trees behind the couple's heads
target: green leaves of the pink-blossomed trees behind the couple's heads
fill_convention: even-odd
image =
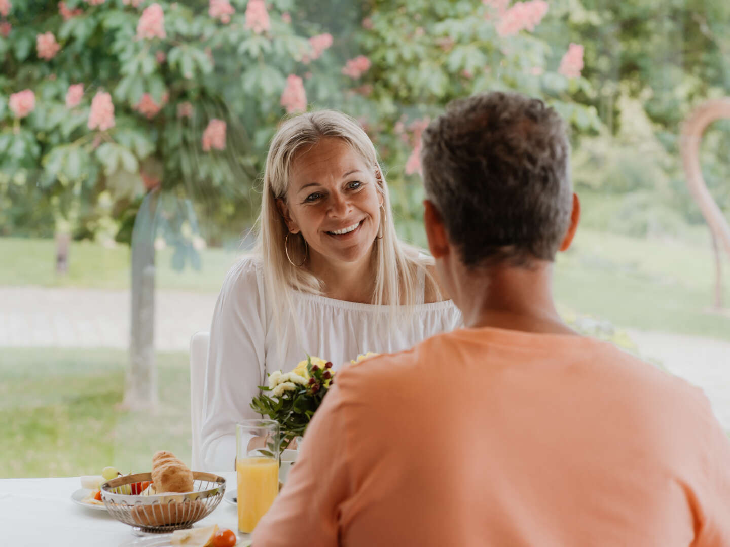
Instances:
[[[37,182],[37,193],[24,194],[28,211],[40,206],[55,224],[66,220],[88,236],[116,225],[118,241],[128,241],[139,198],[159,179],[164,192],[191,199],[196,214],[217,227],[201,230],[226,227],[239,235],[256,216],[255,179],[284,114],[280,96],[288,74],[304,78],[313,107],[339,108],[364,123],[388,167],[404,222],[418,217],[423,197],[418,178],[404,172],[418,140],[409,124],[434,117],[453,98],[520,90],[547,98],[579,133],[600,127],[595,107],[576,101],[593,93],[588,81],[556,72],[567,42],[529,32],[502,38],[487,19],[489,8],[477,1],[278,0],[269,5],[271,28],[262,34],[245,26],[245,0],[233,2],[236,12],[225,24],[209,15],[204,0],[158,4],[164,39],[136,36],[149,1],[134,8],[121,0],[96,6],[68,0],[68,9],[81,10],[69,20],[55,0],[32,7],[15,2],[11,34],[0,37],[0,190],[6,199],[7,180]],[[554,2],[542,24],[563,28],[567,5]],[[292,23],[284,12],[291,12]],[[372,26],[363,26],[365,17]],[[61,44],[50,60],[36,50],[43,32]],[[334,36],[333,46],[305,63],[307,39],[323,32]],[[359,54],[371,68],[358,78],[342,74],[345,61]],[[84,84],[84,97],[66,108],[66,90],[77,83]],[[36,108],[15,120],[7,98],[26,88],[34,90]],[[114,101],[115,126],[108,131],[87,127],[99,90]],[[141,112],[145,97],[161,106],[159,112]],[[192,115],[178,117],[186,103]],[[226,148],[204,151],[201,136],[213,118],[226,121]],[[23,194],[15,188],[13,195]],[[28,219],[27,213],[6,215],[2,229],[18,233]],[[31,230],[48,231],[47,225]]]

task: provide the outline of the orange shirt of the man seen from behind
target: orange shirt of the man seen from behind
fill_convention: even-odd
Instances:
[[[494,328],[337,374],[254,547],[730,546],[702,392],[614,346]]]

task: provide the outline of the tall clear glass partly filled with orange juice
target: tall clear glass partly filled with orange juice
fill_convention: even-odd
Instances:
[[[238,529],[250,534],[279,493],[279,424],[244,420],[236,424]]]

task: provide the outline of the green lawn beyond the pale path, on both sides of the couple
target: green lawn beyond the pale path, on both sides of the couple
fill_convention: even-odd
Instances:
[[[49,240],[0,238],[0,285],[128,289],[129,249],[74,242],[69,274],[53,271]],[[205,249],[200,271],[170,266],[172,249],[157,257],[157,287],[217,292],[239,252]],[[730,264],[725,260],[726,306]],[[563,309],[607,319],[620,327],[704,335],[730,340],[730,314],[709,311],[714,263],[707,231],[689,230],[682,241],[660,241],[579,230],[558,257],[555,287]]]

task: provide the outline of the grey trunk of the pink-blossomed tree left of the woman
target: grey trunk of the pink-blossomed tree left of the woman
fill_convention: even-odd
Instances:
[[[123,408],[154,411],[159,403],[155,366],[155,211],[150,192],[137,212],[132,232],[131,338]]]

